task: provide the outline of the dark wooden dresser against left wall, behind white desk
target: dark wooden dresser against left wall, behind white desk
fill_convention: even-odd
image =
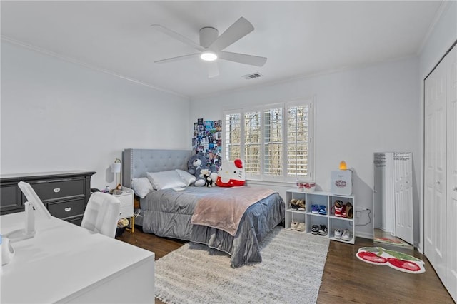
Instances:
[[[81,225],[94,171],[59,171],[0,175],[0,214],[24,211],[25,196],[17,183],[30,183],[49,213]]]

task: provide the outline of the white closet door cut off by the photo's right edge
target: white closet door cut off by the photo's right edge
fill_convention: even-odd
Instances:
[[[457,47],[446,56],[447,66],[447,252],[446,288],[457,301]]]

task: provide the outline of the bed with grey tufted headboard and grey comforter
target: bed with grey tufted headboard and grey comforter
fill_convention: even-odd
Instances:
[[[193,151],[126,149],[123,153],[123,182],[131,188],[134,178],[142,178],[148,172],[162,172],[174,169],[187,171],[187,160]],[[236,187],[245,188],[246,187]],[[236,233],[191,223],[196,204],[201,198],[218,196],[221,187],[189,186],[184,191],[172,188],[150,191],[140,200],[140,213],[135,223],[146,233],[167,238],[204,243],[231,255],[231,266],[261,262],[259,243],[284,219],[284,203],[278,193],[253,203],[243,213]],[[227,193],[227,192],[225,192]]]

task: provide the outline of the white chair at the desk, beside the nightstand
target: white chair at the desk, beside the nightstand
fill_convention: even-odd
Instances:
[[[108,193],[92,193],[84,211],[81,227],[114,238],[121,201]]]

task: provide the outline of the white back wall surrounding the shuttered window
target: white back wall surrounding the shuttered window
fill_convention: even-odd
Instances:
[[[341,160],[352,168],[359,206],[373,210],[373,153],[411,151],[414,158],[418,206],[418,59],[408,58],[373,66],[261,86],[191,101],[191,121],[221,119],[229,108],[316,97],[316,182],[330,187],[330,172]],[[255,81],[255,80],[251,80]],[[271,186],[271,185],[268,185]],[[288,185],[281,188],[281,194]],[[285,197],[285,196],[283,196]],[[373,219],[373,213],[371,213]],[[368,212],[358,224],[368,223]],[[373,220],[356,228],[357,235],[373,236]]]

